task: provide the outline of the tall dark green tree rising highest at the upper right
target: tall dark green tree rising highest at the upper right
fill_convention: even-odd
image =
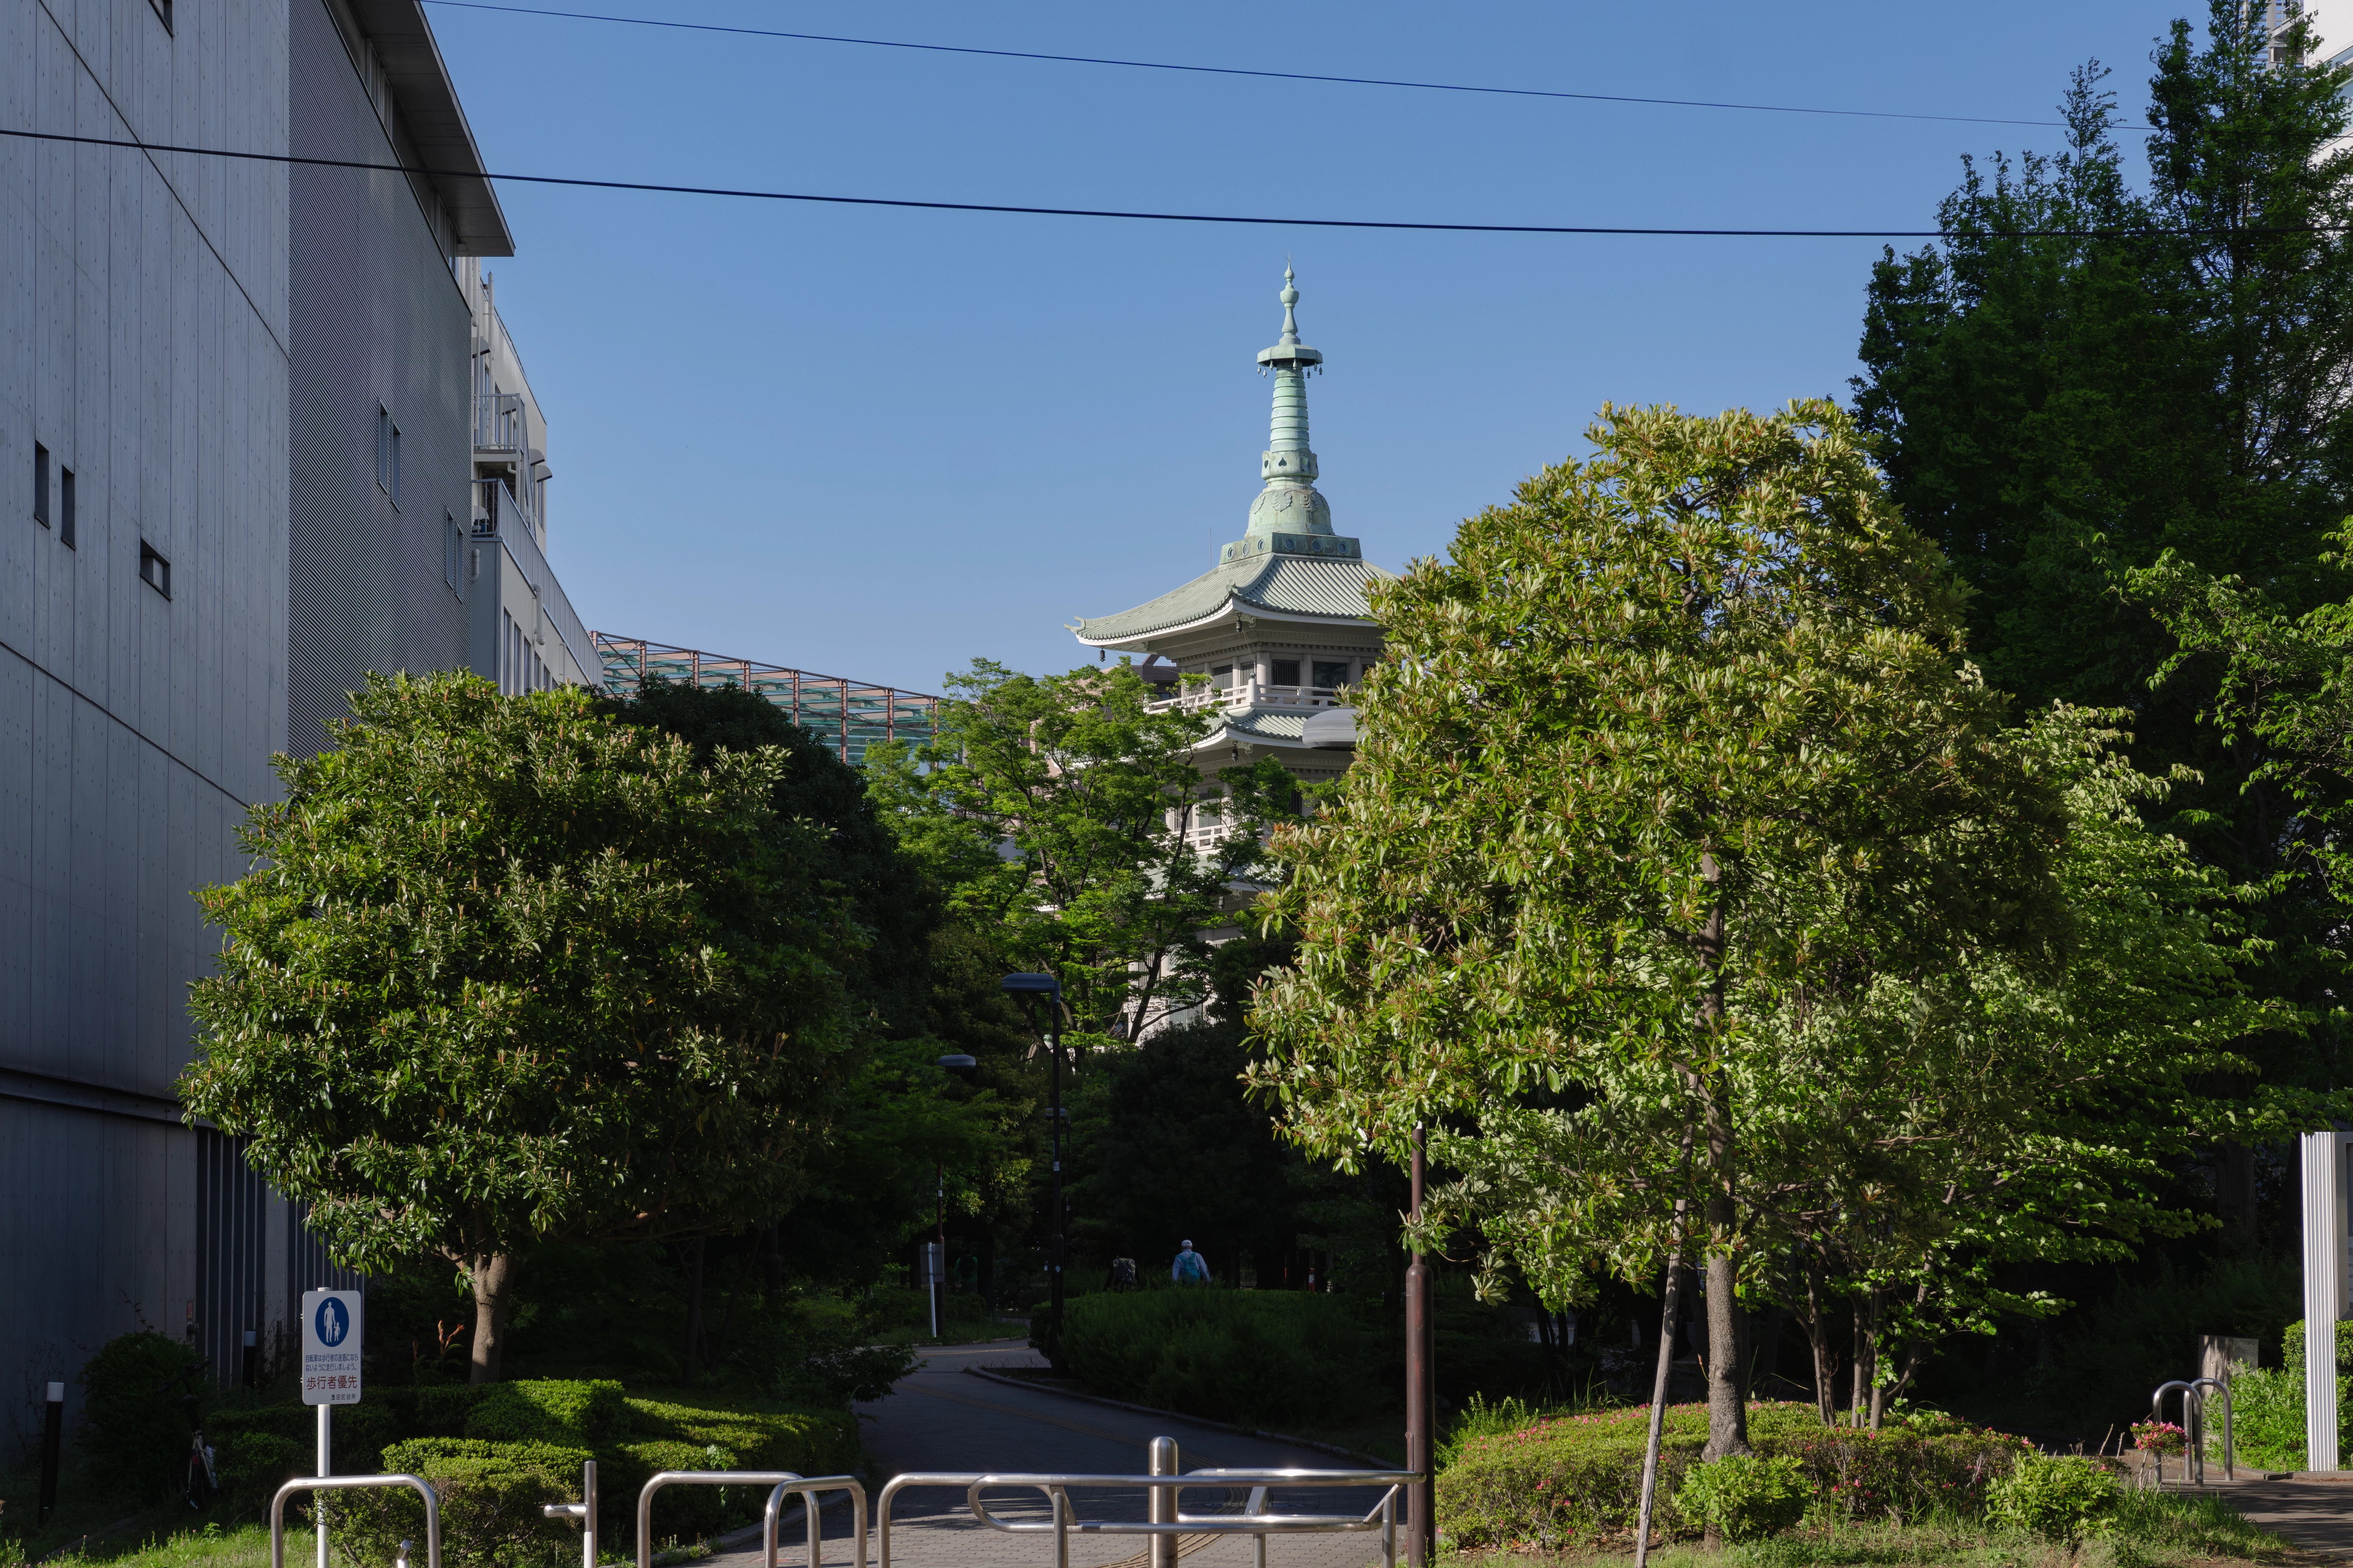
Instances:
[[[2033,708],[2132,708],[2134,762],[2195,773],[2169,823],[2261,891],[2252,983],[2327,1016],[2346,922],[2308,875],[2313,827],[2259,731],[2207,722],[2226,663],[2174,661],[2179,625],[2141,592],[2162,585],[2134,574],[2238,578],[2289,618],[2337,592],[2320,555],[2353,510],[2348,71],[2313,59],[2308,19],[2273,38],[2240,0],[2209,0],[2205,40],[2174,21],[2153,63],[2146,188],[2094,63],[2064,155],[1965,165],[1951,237],[1873,268],[1854,409],[1911,524],[1977,588],[1988,679]],[[2301,1030],[2245,1053],[2273,1081],[2325,1079]],[[2252,1159],[2221,1173],[2252,1239]]]

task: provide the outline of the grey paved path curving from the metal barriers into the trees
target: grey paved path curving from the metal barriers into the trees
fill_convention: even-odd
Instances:
[[[1024,1342],[948,1345],[925,1352],[922,1366],[899,1380],[889,1399],[861,1408],[866,1448],[875,1458],[875,1500],[882,1483],[904,1472],[1061,1472],[1061,1474],[1144,1474],[1146,1443],[1174,1436],[1181,1469],[1205,1465],[1228,1469],[1358,1469],[1315,1448],[1294,1448],[1264,1439],[1238,1436],[1214,1427],[1162,1415],[1139,1415],[1111,1406],[1066,1399],[1045,1389],[1007,1387],[986,1378],[967,1378],[967,1366],[1045,1366]],[[1000,1514],[1045,1519],[1045,1502],[1021,1505],[1002,1493]],[[1035,1493],[1033,1493],[1035,1497]],[[1186,1512],[1209,1512],[1217,1493],[1186,1493]],[[1292,1490],[1275,1493],[1273,1505],[1287,1512],[1362,1514],[1379,1500],[1377,1490]],[[1144,1519],[1144,1493],[1073,1493],[1082,1519]],[[1240,1493],[1228,1495],[1238,1509]],[[1402,1500],[1400,1500],[1402,1505]],[[1400,1507],[1402,1514],[1402,1507]],[[826,1519],[826,1568],[849,1568],[849,1509],[831,1507]],[[779,1533],[779,1561],[807,1561],[807,1530],[793,1526]],[[1181,1537],[1186,1568],[1252,1568],[1249,1537]],[[786,1549],[788,1547],[788,1549]],[[1379,1533],[1367,1535],[1294,1535],[1266,1542],[1266,1568],[1365,1568],[1381,1556]],[[899,1568],[1052,1568],[1049,1535],[1005,1535],[974,1523],[962,1490],[908,1488],[892,1505],[892,1566]],[[875,1547],[868,1542],[868,1563]],[[1141,1535],[1071,1535],[1071,1568],[1144,1568]],[[706,1559],[706,1568],[758,1568],[758,1542],[748,1552]]]

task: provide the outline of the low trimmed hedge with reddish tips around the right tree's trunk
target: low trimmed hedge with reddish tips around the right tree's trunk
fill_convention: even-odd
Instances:
[[[1647,1429],[1649,1406],[1633,1406],[1466,1439],[1438,1472],[1438,1528],[1454,1547],[1560,1549],[1628,1537]],[[1678,1490],[1706,1441],[1706,1406],[1668,1406],[1652,1512],[1668,1535],[1699,1533]],[[1849,1519],[1894,1521],[1981,1512],[1986,1488],[2026,1450],[2024,1439],[1946,1420],[1887,1432],[1824,1427],[1812,1403],[1748,1406],[1748,1443],[1762,1458],[1795,1460],[1807,1493]]]

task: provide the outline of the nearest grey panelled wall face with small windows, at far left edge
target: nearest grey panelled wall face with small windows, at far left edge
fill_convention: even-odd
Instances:
[[[287,0],[176,24],[0,7],[0,122],[285,150]],[[287,205],[273,165],[0,143],[0,1345],[28,1373],[195,1298],[169,1093],[214,947],[188,889],[242,870],[285,741]]]

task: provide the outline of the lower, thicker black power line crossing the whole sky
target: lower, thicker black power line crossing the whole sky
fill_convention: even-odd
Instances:
[[[68,136],[66,132],[19,132],[0,127],[0,136],[28,141],[68,141],[92,148],[129,148],[136,153],[174,153],[184,158],[240,158],[315,169],[367,169],[372,174],[424,174],[426,179],[492,179],[522,186],[581,186],[588,190],[649,190],[656,195],[720,195],[751,202],[824,202],[831,207],[911,207],[918,212],[1007,212],[1035,219],[1127,219],[1139,223],[1252,223],[1266,228],[1395,228],[1452,235],[1631,235],[1666,240],[2106,240],[2151,233],[2146,228],[1633,228],[1619,223],[1417,223],[1405,219],[1266,219],[1228,212],[1127,212],[1111,207],[1014,207],[1009,202],[920,202],[896,195],[816,195],[812,190],[741,190],[732,186],[664,186],[635,179],[579,179],[572,174],[489,174],[485,169],[435,169],[409,162],[362,162],[355,158],[304,158],[299,153],[240,153],[235,148],[191,148],[162,141],[122,141],[115,136]],[[2271,228],[2165,230],[2174,235],[2322,235],[2344,233],[2353,223],[2285,223]]]

